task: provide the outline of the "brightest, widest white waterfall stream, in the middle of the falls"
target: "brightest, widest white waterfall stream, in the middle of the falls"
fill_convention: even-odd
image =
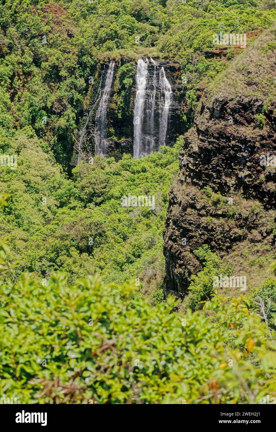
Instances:
[[[139,58],[137,62],[137,74],[136,74],[136,98],[134,105],[134,140],[133,140],[133,156],[136,158],[140,157],[142,148],[142,126],[144,118],[144,98],[145,89],[147,85],[147,65],[148,60],[144,62],[143,59]]]

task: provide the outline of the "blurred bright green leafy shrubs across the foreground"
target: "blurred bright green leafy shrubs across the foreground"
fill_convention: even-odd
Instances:
[[[213,322],[201,311],[172,313],[172,298],[153,308],[136,288],[97,277],[69,286],[61,272],[47,286],[27,274],[2,283],[0,395],[102,404],[257,403],[275,394],[275,341],[242,298],[208,302]]]

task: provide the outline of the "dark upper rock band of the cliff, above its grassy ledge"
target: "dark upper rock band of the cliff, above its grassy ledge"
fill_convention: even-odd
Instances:
[[[262,108],[256,97],[215,97],[209,104],[204,99],[179,155],[183,180],[222,194],[242,192],[274,208],[275,188],[269,183],[276,172],[261,166],[260,156],[275,152],[275,124],[271,117],[266,130],[254,126],[254,114]]]

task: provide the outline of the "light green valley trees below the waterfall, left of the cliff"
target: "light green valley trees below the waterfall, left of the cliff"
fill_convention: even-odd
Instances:
[[[1,232],[21,270],[48,278],[66,272],[70,283],[88,274],[105,282],[139,278],[153,288],[164,276],[162,230],[168,191],[178,173],[179,138],[143,159],[95,157],[65,178],[34,134],[16,133],[10,149],[18,167],[2,167],[0,188],[11,197],[0,209]],[[155,208],[122,207],[123,195],[154,195]]]

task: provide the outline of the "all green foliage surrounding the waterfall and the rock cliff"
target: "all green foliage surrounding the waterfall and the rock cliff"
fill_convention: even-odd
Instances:
[[[258,403],[276,397],[276,282],[213,289],[206,246],[189,294],[163,295],[162,232],[180,136],[141,159],[70,165],[89,76],[108,58],[173,58],[192,121],[227,61],[213,34],[269,28],[272,0],[0,1],[0,396],[21,403]],[[124,117],[128,82],[116,83]],[[123,93],[125,92],[125,93]],[[46,119],[46,122],[44,122]],[[183,133],[184,133],[183,129]],[[155,208],[123,208],[124,194]],[[229,216],[231,217],[231,215]],[[228,273],[227,273],[228,272]],[[257,315],[270,302],[268,321]],[[103,349],[103,347],[105,347]]]

